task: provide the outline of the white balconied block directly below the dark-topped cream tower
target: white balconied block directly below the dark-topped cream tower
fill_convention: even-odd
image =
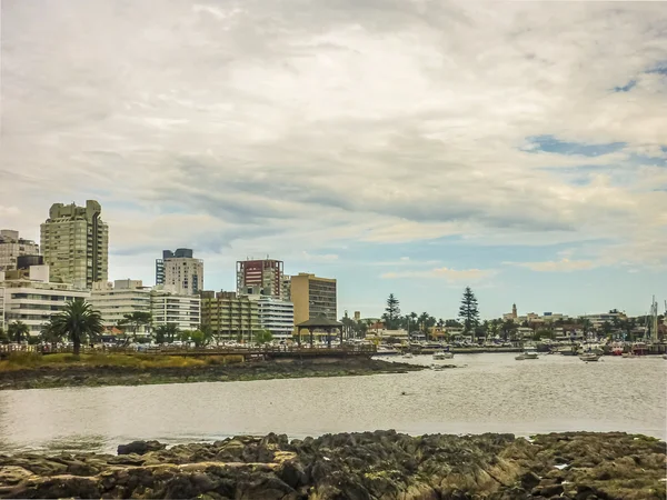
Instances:
[[[197,330],[201,327],[201,299],[199,296],[171,293],[161,287],[150,292],[152,328],[176,324],[179,330]]]

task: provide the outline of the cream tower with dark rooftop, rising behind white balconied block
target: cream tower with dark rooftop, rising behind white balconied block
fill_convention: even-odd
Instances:
[[[203,260],[195,259],[192,250],[163,250],[156,260],[156,284],[173,293],[196,296],[203,288]]]

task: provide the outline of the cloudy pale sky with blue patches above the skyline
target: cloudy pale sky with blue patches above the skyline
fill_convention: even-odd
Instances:
[[[159,8],[158,8],[159,7]],[[667,299],[660,2],[2,0],[0,227],[96,199],[110,279],[192,248],[339,313]],[[660,310],[663,307],[660,307]]]

